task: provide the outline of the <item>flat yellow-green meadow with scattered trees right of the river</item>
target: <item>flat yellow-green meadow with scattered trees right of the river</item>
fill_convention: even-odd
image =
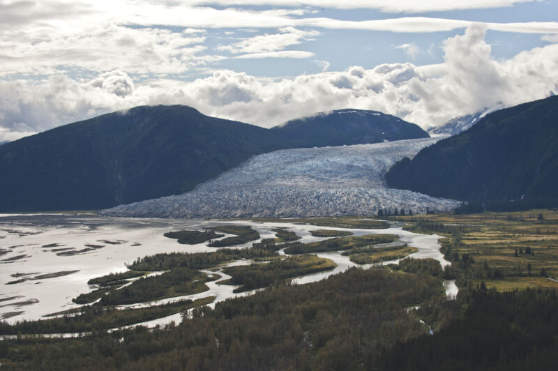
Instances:
[[[444,236],[441,251],[459,287],[484,281],[499,290],[556,287],[558,212],[436,214],[400,217],[425,233]],[[411,227],[410,229],[414,229]],[[416,230],[416,229],[414,229]]]

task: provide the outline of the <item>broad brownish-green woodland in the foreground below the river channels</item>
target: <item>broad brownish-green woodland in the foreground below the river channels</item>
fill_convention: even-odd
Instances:
[[[428,328],[409,305],[443,295],[437,278],[350,269],[194,310],[179,326],[77,339],[0,342],[3,370],[347,370]]]

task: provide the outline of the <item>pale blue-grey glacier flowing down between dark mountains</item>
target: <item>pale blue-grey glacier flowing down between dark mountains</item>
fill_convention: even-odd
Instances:
[[[101,215],[149,218],[257,218],[375,215],[379,209],[449,211],[453,199],[387,188],[383,175],[439,138],[286,149],[254,156],[182,195],[149,199]]]

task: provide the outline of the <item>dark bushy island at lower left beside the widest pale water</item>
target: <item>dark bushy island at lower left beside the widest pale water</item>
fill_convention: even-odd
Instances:
[[[209,289],[204,282],[216,280],[218,275],[209,277],[191,268],[174,268],[161,275],[140,278],[122,289],[112,290],[103,295],[100,304],[121,305],[143,303],[174,296],[197,294]]]

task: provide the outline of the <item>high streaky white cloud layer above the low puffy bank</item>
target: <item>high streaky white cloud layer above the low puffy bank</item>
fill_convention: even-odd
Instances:
[[[110,70],[160,77],[216,69],[218,62],[227,56],[208,49],[206,29],[278,29],[277,33],[255,35],[228,45],[223,43],[217,49],[218,53],[229,52],[240,59],[262,59],[310,58],[314,55],[311,51],[288,49],[312,40],[323,29],[428,33],[465,29],[474,24],[435,17],[339,20],[316,17],[312,9],[296,6],[367,7],[386,11],[395,6],[408,12],[420,7],[474,8],[511,6],[517,2],[475,0],[447,5],[450,2],[353,0],[322,4],[277,0],[268,4],[289,8],[253,10],[229,7],[250,3],[242,0],[217,1],[225,6],[218,8],[200,6],[209,4],[208,1],[186,0],[0,0],[0,77],[43,77],[59,73],[91,77]],[[211,1],[211,4],[215,3]],[[487,27],[497,31],[543,33],[548,35],[545,38],[558,34],[558,22],[488,23]],[[413,47],[405,51],[411,56],[416,54]]]

